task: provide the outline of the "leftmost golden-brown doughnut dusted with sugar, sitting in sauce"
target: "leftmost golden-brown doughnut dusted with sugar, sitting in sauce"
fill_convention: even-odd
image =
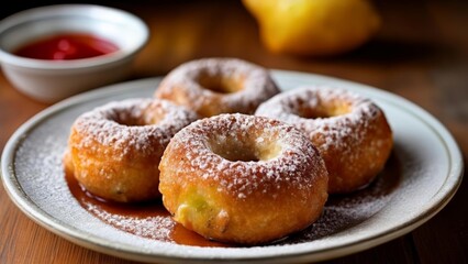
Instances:
[[[75,120],[65,169],[87,191],[105,200],[158,198],[163,152],[170,138],[197,118],[193,111],[159,99],[109,102]]]

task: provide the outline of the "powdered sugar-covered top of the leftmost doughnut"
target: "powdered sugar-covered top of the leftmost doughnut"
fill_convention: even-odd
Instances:
[[[190,110],[159,99],[112,101],[81,114],[73,125],[80,140],[70,143],[91,151],[112,146],[109,155],[115,158],[145,155],[155,147],[164,150],[177,131],[196,119]]]

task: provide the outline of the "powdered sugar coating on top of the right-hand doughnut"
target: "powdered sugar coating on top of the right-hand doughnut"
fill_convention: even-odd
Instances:
[[[301,117],[304,109],[320,109],[319,111],[323,112],[326,111],[324,108],[346,108],[349,111],[336,117]],[[320,147],[323,150],[341,145],[346,154],[352,154],[353,150],[346,150],[344,139],[353,136],[355,142],[363,141],[364,130],[354,128],[370,125],[378,111],[376,105],[356,94],[327,86],[308,86],[271,98],[260,105],[255,114],[294,124],[311,139],[322,136],[323,143]]]

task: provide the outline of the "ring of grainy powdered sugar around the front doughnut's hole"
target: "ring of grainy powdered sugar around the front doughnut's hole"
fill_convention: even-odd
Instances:
[[[187,160],[190,161],[191,168],[201,168],[205,172],[203,178],[213,178],[219,180],[220,186],[218,190],[227,189],[234,191],[237,198],[244,198],[246,195],[252,194],[256,189],[261,189],[261,193],[268,193],[270,188],[281,188],[281,183],[288,182],[297,188],[309,188],[313,178],[300,177],[298,172],[303,169],[305,163],[313,162],[314,167],[320,167],[321,160],[304,161],[300,154],[315,152],[309,144],[301,144],[298,141],[299,131],[285,129],[285,125],[278,128],[278,122],[269,121],[265,123],[254,122],[253,119],[241,119],[238,114],[222,114],[215,120],[198,121],[191,125],[192,130],[197,133],[182,131],[177,135],[177,144],[174,147],[187,147],[193,151],[187,152]],[[205,127],[204,127],[205,125]],[[210,138],[213,131],[219,132],[216,135],[216,143],[220,145],[227,145],[226,141],[236,140],[236,138],[247,138],[247,129],[257,127],[256,130],[263,130],[265,134],[276,134],[281,139],[281,152],[285,153],[292,163],[282,163],[281,161],[259,161],[261,166],[256,166],[257,162],[232,162],[222,156],[213,153],[210,147],[202,147],[208,144],[207,141],[200,141],[196,138]],[[204,128],[211,128],[210,130]],[[239,131],[242,134],[237,136],[230,136],[233,131]],[[235,132],[234,132],[235,133]],[[278,134],[279,133],[279,134]],[[261,144],[267,139],[258,138],[257,143]],[[230,143],[232,144],[232,143]],[[242,142],[234,143],[242,145]],[[231,174],[235,170],[235,174]],[[265,172],[264,172],[265,170]],[[234,178],[222,177],[220,172],[226,172]],[[267,178],[255,178],[256,175],[265,174]],[[282,175],[288,177],[282,177]],[[316,177],[316,175],[313,175]],[[252,178],[254,177],[254,178]],[[289,186],[289,185],[288,185]],[[293,195],[293,194],[291,194]]]

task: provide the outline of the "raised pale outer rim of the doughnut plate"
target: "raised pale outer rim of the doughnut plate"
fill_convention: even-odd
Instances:
[[[112,99],[112,96],[122,94],[129,94],[129,96],[131,96],[132,90],[155,87],[157,81],[160,80],[158,77],[122,82],[88,91],[58,102],[31,118],[13,133],[3,150],[1,157],[1,177],[3,186],[11,200],[29,218],[47,230],[81,246],[110,255],[143,262],[183,261],[200,263],[209,261],[243,261],[256,263],[283,263],[291,261],[309,262],[330,260],[356,253],[390,241],[420,227],[442,210],[457,191],[457,188],[461,183],[464,172],[461,153],[455,140],[445,127],[422,108],[397,95],[348,80],[287,70],[272,70],[272,75],[279,86],[286,90],[308,84],[323,84],[343,87],[365,94],[372,99],[382,100],[398,106],[398,108],[404,109],[404,111],[413,118],[423,122],[430,130],[428,133],[433,133],[439,140],[437,142],[432,142],[432,144],[438,144],[443,147],[446,152],[443,155],[446,155],[448,161],[448,169],[446,175],[443,175],[445,179],[437,191],[430,194],[430,202],[420,207],[415,215],[406,219],[403,218],[401,221],[392,221],[389,224],[379,228],[372,228],[372,223],[368,223],[364,226],[364,231],[360,230],[363,232],[352,232],[346,237],[346,239],[341,241],[335,241],[332,238],[332,243],[323,243],[323,245],[319,248],[314,248],[315,244],[313,242],[304,242],[293,245],[271,245],[242,249],[207,249],[161,242],[160,248],[158,246],[152,251],[143,251],[132,246],[131,244],[114,243],[112,240],[94,235],[92,230],[83,231],[70,227],[67,223],[49,216],[23,191],[14,172],[14,156],[19,144],[27,138],[27,134],[32,130],[40,127],[48,117],[66,111],[73,106],[86,103],[87,101],[96,98]],[[385,216],[376,216],[376,218],[377,217]],[[372,229],[368,230],[369,227]],[[323,240],[327,240],[327,238],[324,238]]]

